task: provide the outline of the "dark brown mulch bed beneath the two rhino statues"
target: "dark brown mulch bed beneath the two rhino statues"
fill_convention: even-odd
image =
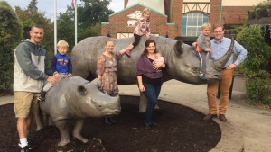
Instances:
[[[33,121],[30,137],[38,145],[33,152],[91,151],[91,152],[207,152],[220,141],[220,127],[214,121],[202,121],[203,114],[175,103],[159,101],[154,121],[159,126],[144,128],[144,113],[138,112],[139,97],[120,96],[122,112],[114,117],[116,124],[107,125],[101,118],[85,120],[81,134],[89,142],[70,139],[65,147],[58,147],[59,130],[46,126],[35,131]],[[70,135],[74,122],[69,122]],[[14,117],[14,104],[0,106],[0,151],[20,151]]]

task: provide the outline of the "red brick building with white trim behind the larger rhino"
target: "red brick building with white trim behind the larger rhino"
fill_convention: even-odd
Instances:
[[[109,15],[109,22],[102,22],[101,35],[112,38],[132,37],[142,10],[151,10],[152,34],[195,40],[204,22],[225,25],[225,34],[233,25],[241,25],[248,18],[248,10],[263,0],[124,0],[124,9]]]

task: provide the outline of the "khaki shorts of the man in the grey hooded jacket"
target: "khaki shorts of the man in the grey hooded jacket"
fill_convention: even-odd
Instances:
[[[27,118],[29,113],[39,112],[40,93],[14,92],[14,112],[16,118]]]

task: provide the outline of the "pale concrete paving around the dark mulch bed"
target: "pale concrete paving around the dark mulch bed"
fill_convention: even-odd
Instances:
[[[227,122],[220,122],[221,140],[212,152],[271,152],[271,110],[243,104],[246,100],[242,77],[237,76],[233,85]],[[136,85],[119,85],[120,94],[138,96]],[[208,113],[206,85],[190,85],[171,80],[164,83],[161,100],[179,103],[204,114]],[[13,103],[14,96],[0,98],[0,105]],[[158,103],[159,105],[159,103]]]

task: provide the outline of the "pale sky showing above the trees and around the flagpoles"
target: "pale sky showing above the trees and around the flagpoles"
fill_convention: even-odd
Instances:
[[[1,1],[1,0],[0,0]],[[13,8],[15,6],[20,6],[22,9],[26,9],[27,5],[31,0],[5,0]],[[45,12],[45,16],[53,19],[54,16],[54,1],[57,2],[57,13],[65,12],[67,10],[67,5],[71,5],[72,0],[37,0],[39,11]],[[80,0],[77,0],[79,3]],[[109,8],[115,12],[118,12],[124,8],[124,0],[111,0]]]

